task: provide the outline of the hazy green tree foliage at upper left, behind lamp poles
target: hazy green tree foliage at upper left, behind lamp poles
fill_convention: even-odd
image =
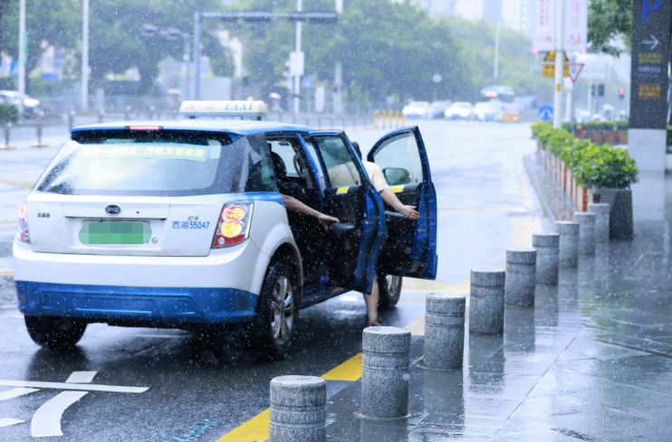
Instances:
[[[5,53],[18,58],[18,2],[0,0],[8,6],[0,22],[0,38]],[[156,0],[97,0],[90,7],[89,64],[91,83],[104,80],[108,73],[119,74],[138,68],[140,92],[151,89],[158,74],[158,62],[166,57],[181,59],[182,37],[148,35],[144,25],[159,31],[170,29],[191,35],[194,12],[218,11],[217,0],[183,0],[170,3]],[[1,9],[0,9],[1,10]],[[45,46],[62,48],[81,60],[82,0],[31,0],[26,5],[28,60],[26,71],[33,71]],[[217,26],[203,35],[203,53],[214,58],[230,58],[217,42]],[[79,71],[79,70],[78,70]]]

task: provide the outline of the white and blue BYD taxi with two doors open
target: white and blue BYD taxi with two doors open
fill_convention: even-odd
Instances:
[[[385,206],[340,130],[263,121],[260,101],[185,101],[171,121],[72,129],[21,204],[18,306],[34,340],[67,349],[87,324],[246,327],[282,357],[301,308],[401,277],[433,279],[437,197],[418,127],[378,164],[418,221]],[[337,217],[287,212],[283,194]]]

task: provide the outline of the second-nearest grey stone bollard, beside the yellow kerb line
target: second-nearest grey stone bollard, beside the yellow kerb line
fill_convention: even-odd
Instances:
[[[366,418],[408,415],[410,332],[368,327],[362,332],[361,414]]]

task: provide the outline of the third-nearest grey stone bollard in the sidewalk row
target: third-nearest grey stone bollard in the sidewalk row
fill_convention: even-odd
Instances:
[[[462,368],[465,354],[465,295],[427,295],[425,366],[433,370]]]

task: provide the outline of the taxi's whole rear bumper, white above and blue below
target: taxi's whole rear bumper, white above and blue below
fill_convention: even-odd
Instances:
[[[250,322],[270,260],[250,240],[207,257],[40,253],[16,240],[13,251],[25,315],[92,322]]]

